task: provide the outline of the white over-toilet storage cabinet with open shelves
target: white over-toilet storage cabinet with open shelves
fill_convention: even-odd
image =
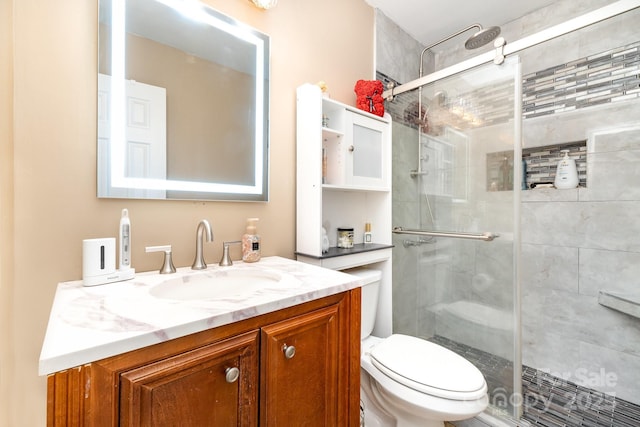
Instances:
[[[298,87],[296,257],[336,270],[391,265],[391,119]],[[365,223],[373,243],[363,244]],[[322,228],[330,249],[322,252]],[[354,248],[337,248],[337,229],[354,229]],[[384,273],[383,273],[384,278]]]

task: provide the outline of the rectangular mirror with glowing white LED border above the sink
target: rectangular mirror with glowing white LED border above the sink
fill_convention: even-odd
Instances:
[[[98,197],[268,199],[269,37],[196,1],[99,0]]]

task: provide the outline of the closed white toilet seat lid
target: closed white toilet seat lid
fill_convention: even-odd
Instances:
[[[462,356],[438,344],[395,334],[371,349],[380,371],[414,390],[446,399],[475,399],[487,392],[484,376]]]

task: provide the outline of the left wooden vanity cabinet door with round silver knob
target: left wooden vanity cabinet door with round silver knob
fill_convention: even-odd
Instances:
[[[257,340],[253,331],[122,373],[120,425],[256,426]]]

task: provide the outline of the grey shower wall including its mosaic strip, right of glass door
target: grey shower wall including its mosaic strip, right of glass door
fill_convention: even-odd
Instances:
[[[634,9],[521,53],[525,76],[556,82],[525,111],[525,150],[587,141],[586,188],[521,195],[523,363],[636,404],[640,319],[597,300],[640,288],[638,19]]]

